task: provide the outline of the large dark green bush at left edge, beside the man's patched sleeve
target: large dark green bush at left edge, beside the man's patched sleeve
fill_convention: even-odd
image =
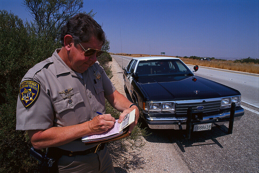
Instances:
[[[28,154],[30,140],[24,131],[15,131],[16,104],[21,78],[40,59],[33,44],[42,43],[28,34],[21,19],[0,11],[0,44],[0,170],[34,172],[37,164]]]

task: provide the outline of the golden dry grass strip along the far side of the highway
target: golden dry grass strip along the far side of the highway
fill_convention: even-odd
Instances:
[[[110,54],[112,54],[112,53],[110,53]],[[119,55],[121,55],[121,54],[119,54]],[[123,53],[122,55],[133,56],[133,57],[150,56],[150,55],[147,55],[147,54],[126,54],[126,53]],[[164,55],[151,55],[151,56],[164,56]],[[175,56],[169,56],[169,57],[175,57]],[[243,71],[243,72],[248,72],[248,73],[259,74],[259,65],[254,64],[254,63],[235,63],[231,60],[227,60],[227,61],[221,61],[221,60],[199,61],[199,60],[194,60],[194,59],[185,59],[183,57],[179,57],[179,58],[185,64],[192,64],[192,65],[198,65],[198,66],[214,67],[214,68],[220,68],[220,69]]]

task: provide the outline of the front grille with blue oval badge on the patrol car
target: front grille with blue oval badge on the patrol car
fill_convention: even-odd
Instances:
[[[192,112],[213,112],[219,111],[221,100],[210,101],[210,102],[197,102],[197,103],[175,103],[176,114],[186,114],[189,106],[192,107]],[[202,110],[198,110],[198,106],[203,106]]]

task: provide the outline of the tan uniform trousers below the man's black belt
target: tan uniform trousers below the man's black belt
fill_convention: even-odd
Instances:
[[[84,156],[62,156],[58,161],[59,173],[115,173],[110,153],[105,146],[103,150]]]

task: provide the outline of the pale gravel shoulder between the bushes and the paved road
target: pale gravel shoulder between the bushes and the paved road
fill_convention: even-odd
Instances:
[[[126,96],[123,70],[114,59],[109,64],[113,73],[112,83],[120,93]],[[156,142],[149,142],[143,137],[142,141],[145,143],[143,148],[131,151],[131,154],[126,156],[127,160],[131,161],[130,164],[127,164],[127,169],[114,163],[114,169],[117,173],[191,172],[172,143],[163,142],[159,137],[153,140]]]

